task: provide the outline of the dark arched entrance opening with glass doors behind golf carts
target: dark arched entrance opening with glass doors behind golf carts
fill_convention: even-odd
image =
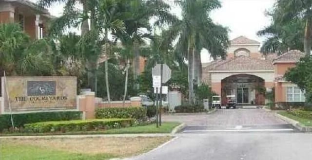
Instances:
[[[237,105],[265,105],[265,81],[251,74],[235,74],[221,80],[222,106],[227,95],[235,95]]]

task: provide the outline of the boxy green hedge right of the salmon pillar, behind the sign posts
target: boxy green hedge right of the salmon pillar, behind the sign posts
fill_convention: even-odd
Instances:
[[[97,118],[134,118],[142,120],[146,118],[145,107],[107,107],[96,110]]]

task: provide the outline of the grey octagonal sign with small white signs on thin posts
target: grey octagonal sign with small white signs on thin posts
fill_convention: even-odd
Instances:
[[[166,64],[156,64],[156,66],[152,69],[152,76],[153,76],[153,87],[159,86],[158,88],[160,89],[160,98],[159,98],[159,106],[158,106],[158,100],[157,102],[157,112],[156,112],[156,123],[158,126],[158,114],[159,114],[159,125],[161,126],[161,111],[162,111],[162,85],[166,82],[169,81],[171,78],[171,70]],[[158,79],[155,79],[157,82],[154,82],[154,77],[159,78],[160,85],[158,83]],[[155,85],[154,85],[155,83]],[[156,93],[158,93],[158,89],[156,87]],[[158,95],[158,94],[157,94]],[[160,110],[159,110],[160,108]]]

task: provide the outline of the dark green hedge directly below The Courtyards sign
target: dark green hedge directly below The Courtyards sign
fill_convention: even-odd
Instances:
[[[25,113],[13,114],[14,126],[22,127],[24,124],[45,122],[45,121],[66,121],[81,119],[82,112],[66,111],[66,112],[40,112],[40,113]],[[9,114],[0,115],[0,132],[3,129],[12,127],[11,116]]]

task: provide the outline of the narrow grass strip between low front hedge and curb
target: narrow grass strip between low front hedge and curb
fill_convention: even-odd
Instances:
[[[4,133],[0,136],[44,136],[44,135],[77,135],[77,134],[134,134],[134,133],[171,133],[171,131],[180,123],[164,122],[159,128],[156,124],[143,126],[133,126],[119,129],[98,130],[98,131],[77,131],[66,133]],[[0,159],[1,160],[1,159]]]

